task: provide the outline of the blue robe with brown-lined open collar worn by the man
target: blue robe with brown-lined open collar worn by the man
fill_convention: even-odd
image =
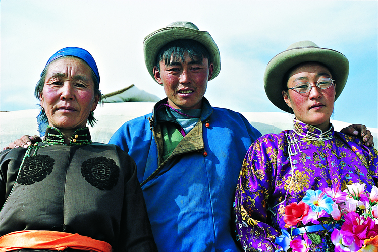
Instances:
[[[160,167],[153,113],[126,122],[109,141],[137,164],[159,251],[241,251],[234,238],[234,193],[245,153],[261,133],[240,113],[213,108],[205,98],[202,104],[199,122],[180,143],[187,142]]]

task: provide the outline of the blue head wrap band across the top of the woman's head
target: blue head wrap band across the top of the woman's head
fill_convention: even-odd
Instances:
[[[54,55],[52,55],[48,59],[48,61],[46,63],[46,67],[53,60],[60,58],[60,57],[63,57],[63,56],[75,56],[75,57],[78,57],[78,58],[81,58],[82,60],[84,60],[86,62],[86,64],[88,64],[89,67],[93,70],[94,74],[97,77],[98,83],[100,83],[100,74],[98,73],[97,65],[96,65],[96,62],[94,61],[92,55],[90,55],[90,53],[88,51],[86,51],[82,48],[79,48],[79,47],[66,47],[66,48],[60,49],[59,51],[54,53]],[[41,74],[41,76],[42,76],[42,74]]]

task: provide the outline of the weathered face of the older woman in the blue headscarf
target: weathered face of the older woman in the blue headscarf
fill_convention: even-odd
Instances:
[[[91,69],[85,62],[63,57],[50,63],[40,104],[51,127],[60,130],[85,127],[98,100],[98,95],[94,95]]]

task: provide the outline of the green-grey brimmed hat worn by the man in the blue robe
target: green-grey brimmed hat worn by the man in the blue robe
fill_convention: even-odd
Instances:
[[[207,31],[200,31],[191,22],[173,22],[164,28],[152,32],[143,41],[144,60],[148,73],[154,80],[153,67],[156,65],[157,54],[161,47],[178,39],[193,39],[203,44],[210,53],[212,63],[214,64],[211,80],[217,77],[219,71],[221,71],[221,55],[211,35]]]

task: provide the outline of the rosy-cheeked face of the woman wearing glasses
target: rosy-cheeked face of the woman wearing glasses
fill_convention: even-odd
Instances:
[[[287,87],[295,87],[303,81],[316,83],[319,79],[327,77],[332,79],[326,67],[316,62],[307,62],[291,71]],[[282,91],[282,96],[286,104],[293,109],[298,120],[326,131],[330,127],[330,118],[334,110],[335,82],[327,89],[320,89],[315,84],[311,85],[312,89],[307,93],[298,93],[290,89]]]

